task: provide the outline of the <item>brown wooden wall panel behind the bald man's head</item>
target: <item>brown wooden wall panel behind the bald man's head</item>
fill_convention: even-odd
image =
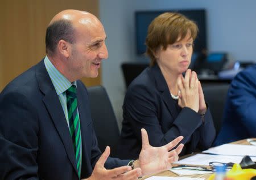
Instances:
[[[0,91],[46,55],[47,25],[65,9],[85,10],[98,16],[98,0],[0,1]],[[98,78],[82,81],[87,86],[101,84],[101,70]]]

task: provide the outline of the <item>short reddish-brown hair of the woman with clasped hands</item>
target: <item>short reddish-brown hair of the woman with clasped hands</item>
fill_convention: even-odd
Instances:
[[[151,59],[150,66],[155,65],[155,53],[160,46],[166,50],[167,46],[174,44],[179,37],[183,40],[188,31],[195,40],[198,32],[196,23],[176,12],[165,12],[152,20],[146,37],[146,54]]]

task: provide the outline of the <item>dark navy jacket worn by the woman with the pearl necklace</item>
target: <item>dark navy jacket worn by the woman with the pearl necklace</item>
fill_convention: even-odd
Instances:
[[[181,109],[173,100],[158,65],[148,67],[129,86],[123,103],[119,157],[137,158],[142,146],[141,128],[150,144],[160,147],[183,135],[183,152],[207,149],[215,137],[209,109],[204,123],[190,108]]]

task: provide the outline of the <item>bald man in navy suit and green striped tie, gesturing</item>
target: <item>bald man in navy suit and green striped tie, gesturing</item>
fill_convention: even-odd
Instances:
[[[137,179],[170,168],[183,137],[151,147],[142,129],[136,161],[101,153],[92,127],[88,92],[108,58],[104,27],[77,10],[57,14],[46,31],[46,57],[0,94],[0,179]],[[129,165],[128,165],[129,164]]]

